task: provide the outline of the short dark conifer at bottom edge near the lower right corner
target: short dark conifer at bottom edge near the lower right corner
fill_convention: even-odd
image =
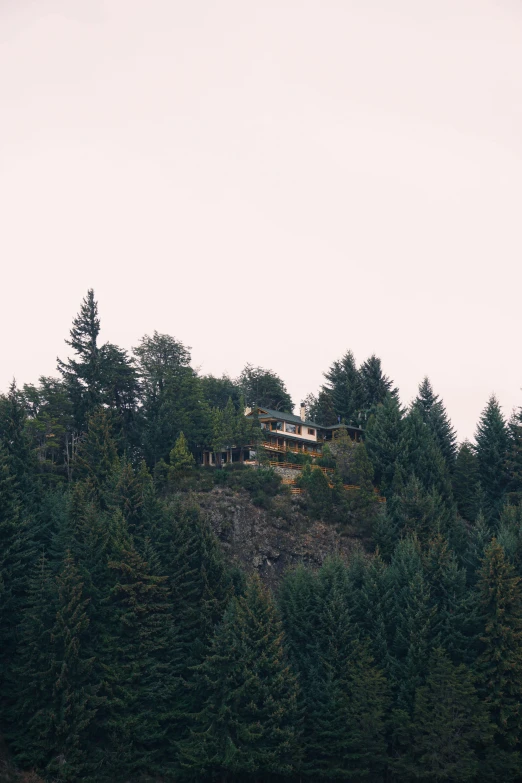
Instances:
[[[430,657],[426,684],[415,691],[409,747],[393,767],[400,780],[474,781],[481,746],[491,734],[472,675],[438,648]]]

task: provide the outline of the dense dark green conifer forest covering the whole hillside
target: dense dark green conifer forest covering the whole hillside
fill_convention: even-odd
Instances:
[[[348,351],[307,414],[363,442],[292,496],[244,415],[292,411],[275,373],[99,332],[91,290],[57,376],[0,396],[0,776],[522,780],[522,410],[491,397],[458,444],[427,378],[406,408]],[[231,443],[257,465],[199,464]],[[350,556],[268,587],[198,503],[225,490],[335,526]]]

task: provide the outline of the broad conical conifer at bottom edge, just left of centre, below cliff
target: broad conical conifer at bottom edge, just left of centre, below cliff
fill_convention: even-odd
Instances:
[[[185,770],[253,783],[291,775],[299,764],[297,681],[275,605],[257,577],[232,599],[197,676],[206,700],[181,743]]]

